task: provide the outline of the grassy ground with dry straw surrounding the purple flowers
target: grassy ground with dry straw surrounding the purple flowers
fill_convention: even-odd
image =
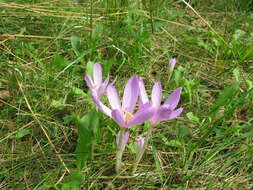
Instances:
[[[252,189],[253,13],[250,1],[0,1],[1,189]],[[251,5],[252,6],[252,5]],[[177,57],[168,81],[168,60]],[[115,133],[99,115],[93,158],[77,169],[83,77],[100,61],[122,91],[138,74],[183,114],[153,131],[137,175],[135,136],[114,172]]]

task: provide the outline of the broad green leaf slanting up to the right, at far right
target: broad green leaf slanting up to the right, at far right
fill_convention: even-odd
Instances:
[[[216,113],[222,106],[230,103],[231,99],[239,90],[239,83],[236,82],[228,87],[226,87],[218,96],[213,107],[211,108],[211,114]]]

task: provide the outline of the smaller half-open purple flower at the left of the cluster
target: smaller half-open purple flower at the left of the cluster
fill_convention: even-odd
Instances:
[[[85,81],[94,96],[100,98],[105,92],[109,82],[109,77],[102,82],[102,68],[97,62],[93,66],[93,79],[90,75],[85,75]]]

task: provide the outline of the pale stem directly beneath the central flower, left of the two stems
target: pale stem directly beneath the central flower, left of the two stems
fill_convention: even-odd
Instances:
[[[124,134],[125,134],[125,129],[122,128],[120,131],[120,136],[119,136],[119,144],[118,144],[118,150],[116,152],[116,173],[119,174],[122,166],[122,155],[124,152],[124,149],[126,145],[123,143],[124,141]]]

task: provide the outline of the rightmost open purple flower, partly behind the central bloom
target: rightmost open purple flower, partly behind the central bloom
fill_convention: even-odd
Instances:
[[[139,89],[141,103],[145,104],[149,100],[142,79],[139,79]],[[162,86],[160,82],[155,83],[151,95],[152,107],[155,109],[155,114],[150,119],[152,125],[155,125],[161,121],[174,119],[182,113],[183,108],[178,108],[175,110],[180,100],[181,91],[182,87],[177,88],[164,102],[164,104],[161,105]]]

